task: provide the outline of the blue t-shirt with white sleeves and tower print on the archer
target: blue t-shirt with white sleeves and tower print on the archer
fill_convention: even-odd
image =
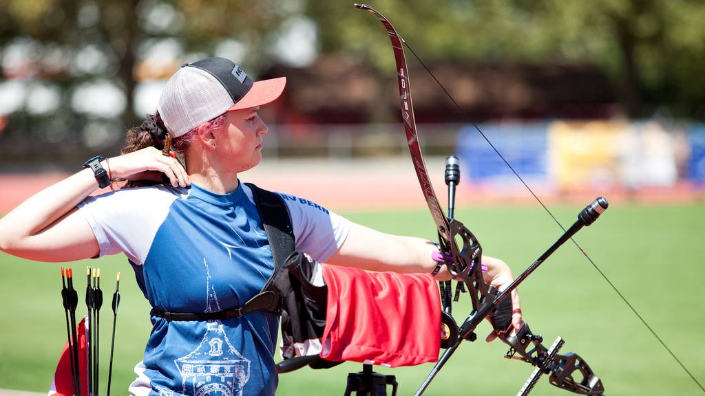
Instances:
[[[296,247],[326,261],[350,223],[307,199],[281,194]],[[250,188],[228,194],[140,187],[89,197],[79,212],[101,255],[124,252],[152,307],[215,312],[242,306],[259,292],[274,262]],[[255,311],[224,321],[152,316],[133,395],[274,395],[278,316]]]

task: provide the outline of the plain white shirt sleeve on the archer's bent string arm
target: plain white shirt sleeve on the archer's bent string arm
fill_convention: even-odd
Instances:
[[[177,197],[175,189],[164,186],[138,187],[87,197],[77,207],[93,230],[100,256],[124,252],[142,264]]]

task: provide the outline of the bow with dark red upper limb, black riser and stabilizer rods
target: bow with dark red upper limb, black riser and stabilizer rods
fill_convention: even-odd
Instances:
[[[462,290],[463,285],[467,287],[472,302],[472,311],[465,319],[465,322],[462,323],[461,326],[457,326],[453,320],[453,316],[450,316],[452,304],[450,300],[450,281],[445,284],[445,287],[443,283],[441,283],[441,295],[444,308],[443,323],[448,326],[449,339],[445,342],[445,346],[447,347],[446,351],[443,352],[443,355],[441,355],[439,361],[431,370],[431,373],[429,373],[424,383],[422,383],[417,390],[416,395],[421,395],[424,390],[426,390],[429,383],[431,383],[431,380],[436,376],[436,373],[438,373],[443,365],[446,364],[446,361],[450,359],[450,356],[458,348],[460,342],[463,340],[474,341],[477,338],[474,330],[479,323],[488,316],[493,318],[497,307],[502,307],[502,304],[504,304],[503,307],[505,308],[506,304],[511,304],[510,299],[506,299],[506,297],[510,295],[510,292],[525,280],[549,255],[558,249],[560,245],[563,245],[572,235],[575,235],[578,230],[585,225],[593,223],[598,216],[607,209],[608,203],[606,199],[598,198],[587,206],[580,212],[578,220],[565,231],[558,241],[501,292],[484,283],[481,269],[482,247],[477,241],[477,238],[465,225],[454,218],[448,218],[443,213],[443,209],[441,209],[439,201],[436,199],[436,194],[429,180],[414,119],[409,70],[406,65],[403,49],[404,41],[391,23],[379,12],[375,11],[374,8],[364,4],[355,4],[355,6],[362,10],[369,11],[379,18],[391,39],[394,58],[396,59],[404,130],[406,132],[409,151],[414,163],[416,175],[421,184],[424,198],[431,211],[431,216],[433,216],[434,222],[436,223],[441,251],[445,254],[449,253],[450,257],[452,257],[452,260],[446,263],[448,271],[450,271],[456,280],[459,280],[460,283],[458,286],[460,286],[460,290]],[[458,246],[458,240],[462,241],[462,247]],[[458,295],[457,291],[458,290],[456,290],[456,300]],[[603,395],[604,388],[601,380],[594,375],[590,367],[580,356],[573,353],[557,353],[558,349],[563,346],[563,340],[560,337],[553,342],[550,348],[546,348],[541,344],[543,341],[541,336],[532,334],[529,326],[524,323],[516,335],[510,336],[501,334],[500,338],[510,345],[510,349],[507,354],[505,354],[505,357],[527,361],[529,364],[536,366],[532,375],[529,376],[529,379],[521,388],[519,395],[527,395],[543,373],[549,374],[550,383],[556,385],[558,388],[570,390],[580,395]]]

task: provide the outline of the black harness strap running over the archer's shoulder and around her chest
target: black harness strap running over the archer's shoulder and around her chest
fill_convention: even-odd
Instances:
[[[278,290],[274,287],[274,278],[286,262],[286,258],[294,251],[294,232],[291,228],[291,219],[286,209],[284,200],[276,194],[253,185],[245,183],[252,190],[252,197],[255,199],[259,218],[262,219],[264,232],[271,255],[274,258],[274,272],[266,281],[262,290],[245,302],[242,307],[226,309],[219,312],[187,313],[187,312],[166,312],[159,309],[152,309],[154,316],[165,318],[167,321],[214,321],[231,318],[239,318],[248,312],[265,310],[279,313],[281,310],[281,298]]]

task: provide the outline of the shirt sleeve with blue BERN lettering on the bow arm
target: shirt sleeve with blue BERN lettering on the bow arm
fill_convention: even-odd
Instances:
[[[291,218],[296,249],[324,263],[341,248],[350,231],[350,221],[328,209],[293,195],[281,194]]]

